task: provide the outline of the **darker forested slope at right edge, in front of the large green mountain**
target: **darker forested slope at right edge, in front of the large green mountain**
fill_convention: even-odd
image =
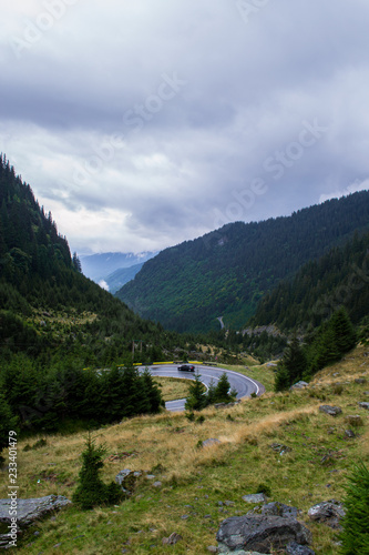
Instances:
[[[369,233],[336,246],[305,264],[293,280],[280,282],[259,302],[254,325],[280,330],[316,327],[345,306],[358,324],[369,315]]]

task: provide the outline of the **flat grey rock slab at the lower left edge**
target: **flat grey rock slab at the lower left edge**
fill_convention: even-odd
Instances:
[[[0,500],[0,526],[7,529],[11,524],[11,515],[9,509],[17,503],[17,525],[18,532],[22,533],[24,528],[33,522],[44,518],[59,511],[62,507],[71,505],[71,502],[63,495],[47,495],[45,497],[35,497],[30,500]],[[8,533],[0,534],[0,547],[9,544],[10,536]]]

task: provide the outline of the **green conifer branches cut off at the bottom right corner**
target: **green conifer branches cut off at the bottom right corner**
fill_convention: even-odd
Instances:
[[[341,555],[369,554],[369,470],[361,462],[348,478],[342,521]]]

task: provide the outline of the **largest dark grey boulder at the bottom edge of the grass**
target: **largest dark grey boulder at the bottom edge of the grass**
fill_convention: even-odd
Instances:
[[[218,553],[257,551],[270,553],[271,548],[285,548],[290,542],[306,545],[311,542],[311,533],[296,518],[281,516],[232,516],[221,524],[216,535]]]

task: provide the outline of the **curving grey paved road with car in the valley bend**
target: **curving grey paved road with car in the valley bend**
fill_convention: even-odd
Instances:
[[[244,376],[243,374],[238,374],[238,372],[234,372],[233,370],[224,370],[216,369],[213,366],[201,366],[198,364],[195,365],[195,372],[180,372],[177,366],[174,365],[163,365],[163,366],[150,366],[151,374],[153,376],[163,376],[163,377],[183,377],[186,380],[194,380],[194,374],[198,372],[201,374],[202,382],[208,387],[211,381],[217,384],[221,375],[225,372],[227,374],[230,389],[237,390],[237,398],[247,397],[252,393],[256,393],[256,395],[262,395],[265,392],[264,385],[250,377]],[[184,411],[185,400],[180,398],[176,401],[168,401],[165,403],[165,407],[168,411]]]

